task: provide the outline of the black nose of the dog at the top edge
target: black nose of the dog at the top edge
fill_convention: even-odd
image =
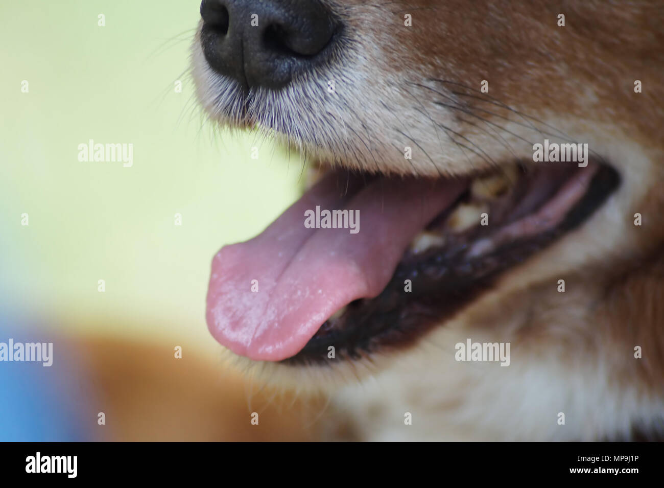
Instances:
[[[201,45],[212,69],[274,90],[324,62],[339,24],[317,0],[203,0]]]

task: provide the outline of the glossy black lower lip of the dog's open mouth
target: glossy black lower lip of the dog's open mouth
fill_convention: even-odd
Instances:
[[[463,249],[456,248],[443,253],[433,249],[418,260],[402,261],[380,295],[350,303],[341,317],[327,320],[299,353],[281,363],[329,364],[330,346],[337,359],[359,359],[378,349],[412,345],[490,289],[502,272],[577,228],[602,206],[620,186],[620,175],[603,161],[596,162],[600,167],[588,191],[556,228],[475,260],[457,260]],[[417,286],[406,294],[404,280],[409,278]]]

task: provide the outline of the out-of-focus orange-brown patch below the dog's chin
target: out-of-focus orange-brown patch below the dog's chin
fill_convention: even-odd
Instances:
[[[88,431],[96,440],[307,441],[322,408],[253,385],[195,347],[184,345],[189,353],[175,361],[172,346],[160,343],[98,337],[72,345],[90,378],[80,408],[88,418],[106,414],[106,425]]]

